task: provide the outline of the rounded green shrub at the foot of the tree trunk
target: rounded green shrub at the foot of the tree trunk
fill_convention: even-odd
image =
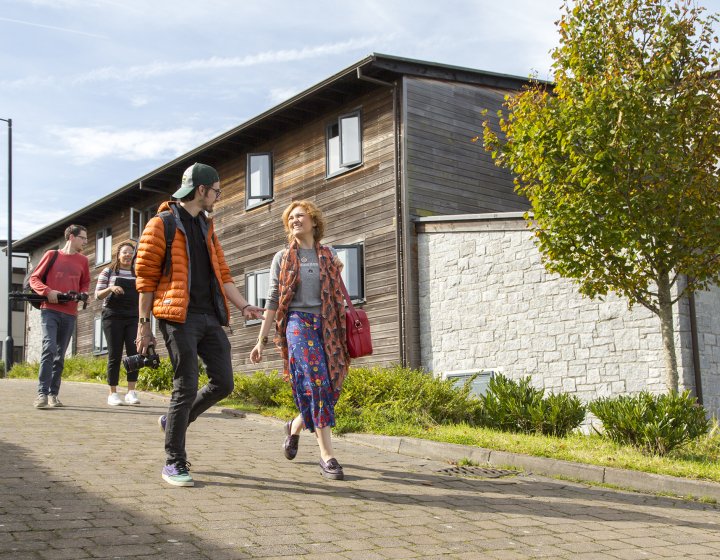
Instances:
[[[705,409],[690,391],[603,398],[590,403],[590,411],[602,422],[605,437],[654,455],[667,455],[710,429]]]

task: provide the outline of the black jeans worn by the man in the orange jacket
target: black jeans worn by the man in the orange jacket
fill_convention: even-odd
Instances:
[[[215,315],[188,313],[184,323],[159,321],[175,370],[165,424],[167,464],[186,461],[188,424],[233,390],[230,341]],[[198,391],[198,356],[205,362],[208,384]]]

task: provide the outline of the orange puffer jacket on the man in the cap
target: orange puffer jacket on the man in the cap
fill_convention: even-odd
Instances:
[[[138,292],[154,292],[153,315],[157,319],[166,319],[176,323],[184,323],[190,303],[190,266],[188,263],[188,245],[185,229],[183,228],[177,210],[176,202],[163,202],[158,213],[170,210],[175,215],[177,230],[172,247],[172,270],[170,276],[163,276],[165,263],[165,227],[162,218],[155,216],[145,226],[140,243],[138,244],[137,260],[135,261],[135,275],[137,276]],[[212,219],[205,221],[207,226],[206,243],[210,262],[212,264],[216,285],[215,309],[218,319],[223,325],[230,322],[230,309],[224,284],[232,282],[230,269],[225,262],[225,254],[215,235],[215,226]],[[224,316],[223,316],[224,315]]]

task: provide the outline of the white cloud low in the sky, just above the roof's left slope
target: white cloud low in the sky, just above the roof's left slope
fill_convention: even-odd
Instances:
[[[182,127],[170,130],[111,130],[67,127],[50,131],[58,151],[77,165],[114,160],[173,159],[210,138],[214,131]]]

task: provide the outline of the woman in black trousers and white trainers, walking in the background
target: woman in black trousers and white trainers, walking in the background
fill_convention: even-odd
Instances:
[[[138,326],[138,293],[135,289],[133,257],[135,245],[123,241],[112,265],[98,276],[95,297],[103,300],[102,327],[108,347],[107,382],[110,387],[108,404],[118,406],[123,399],[117,392],[123,346],[128,356],[137,354],[135,338]],[[138,370],[128,371],[128,392],[124,404],[140,404],[135,392]]]

